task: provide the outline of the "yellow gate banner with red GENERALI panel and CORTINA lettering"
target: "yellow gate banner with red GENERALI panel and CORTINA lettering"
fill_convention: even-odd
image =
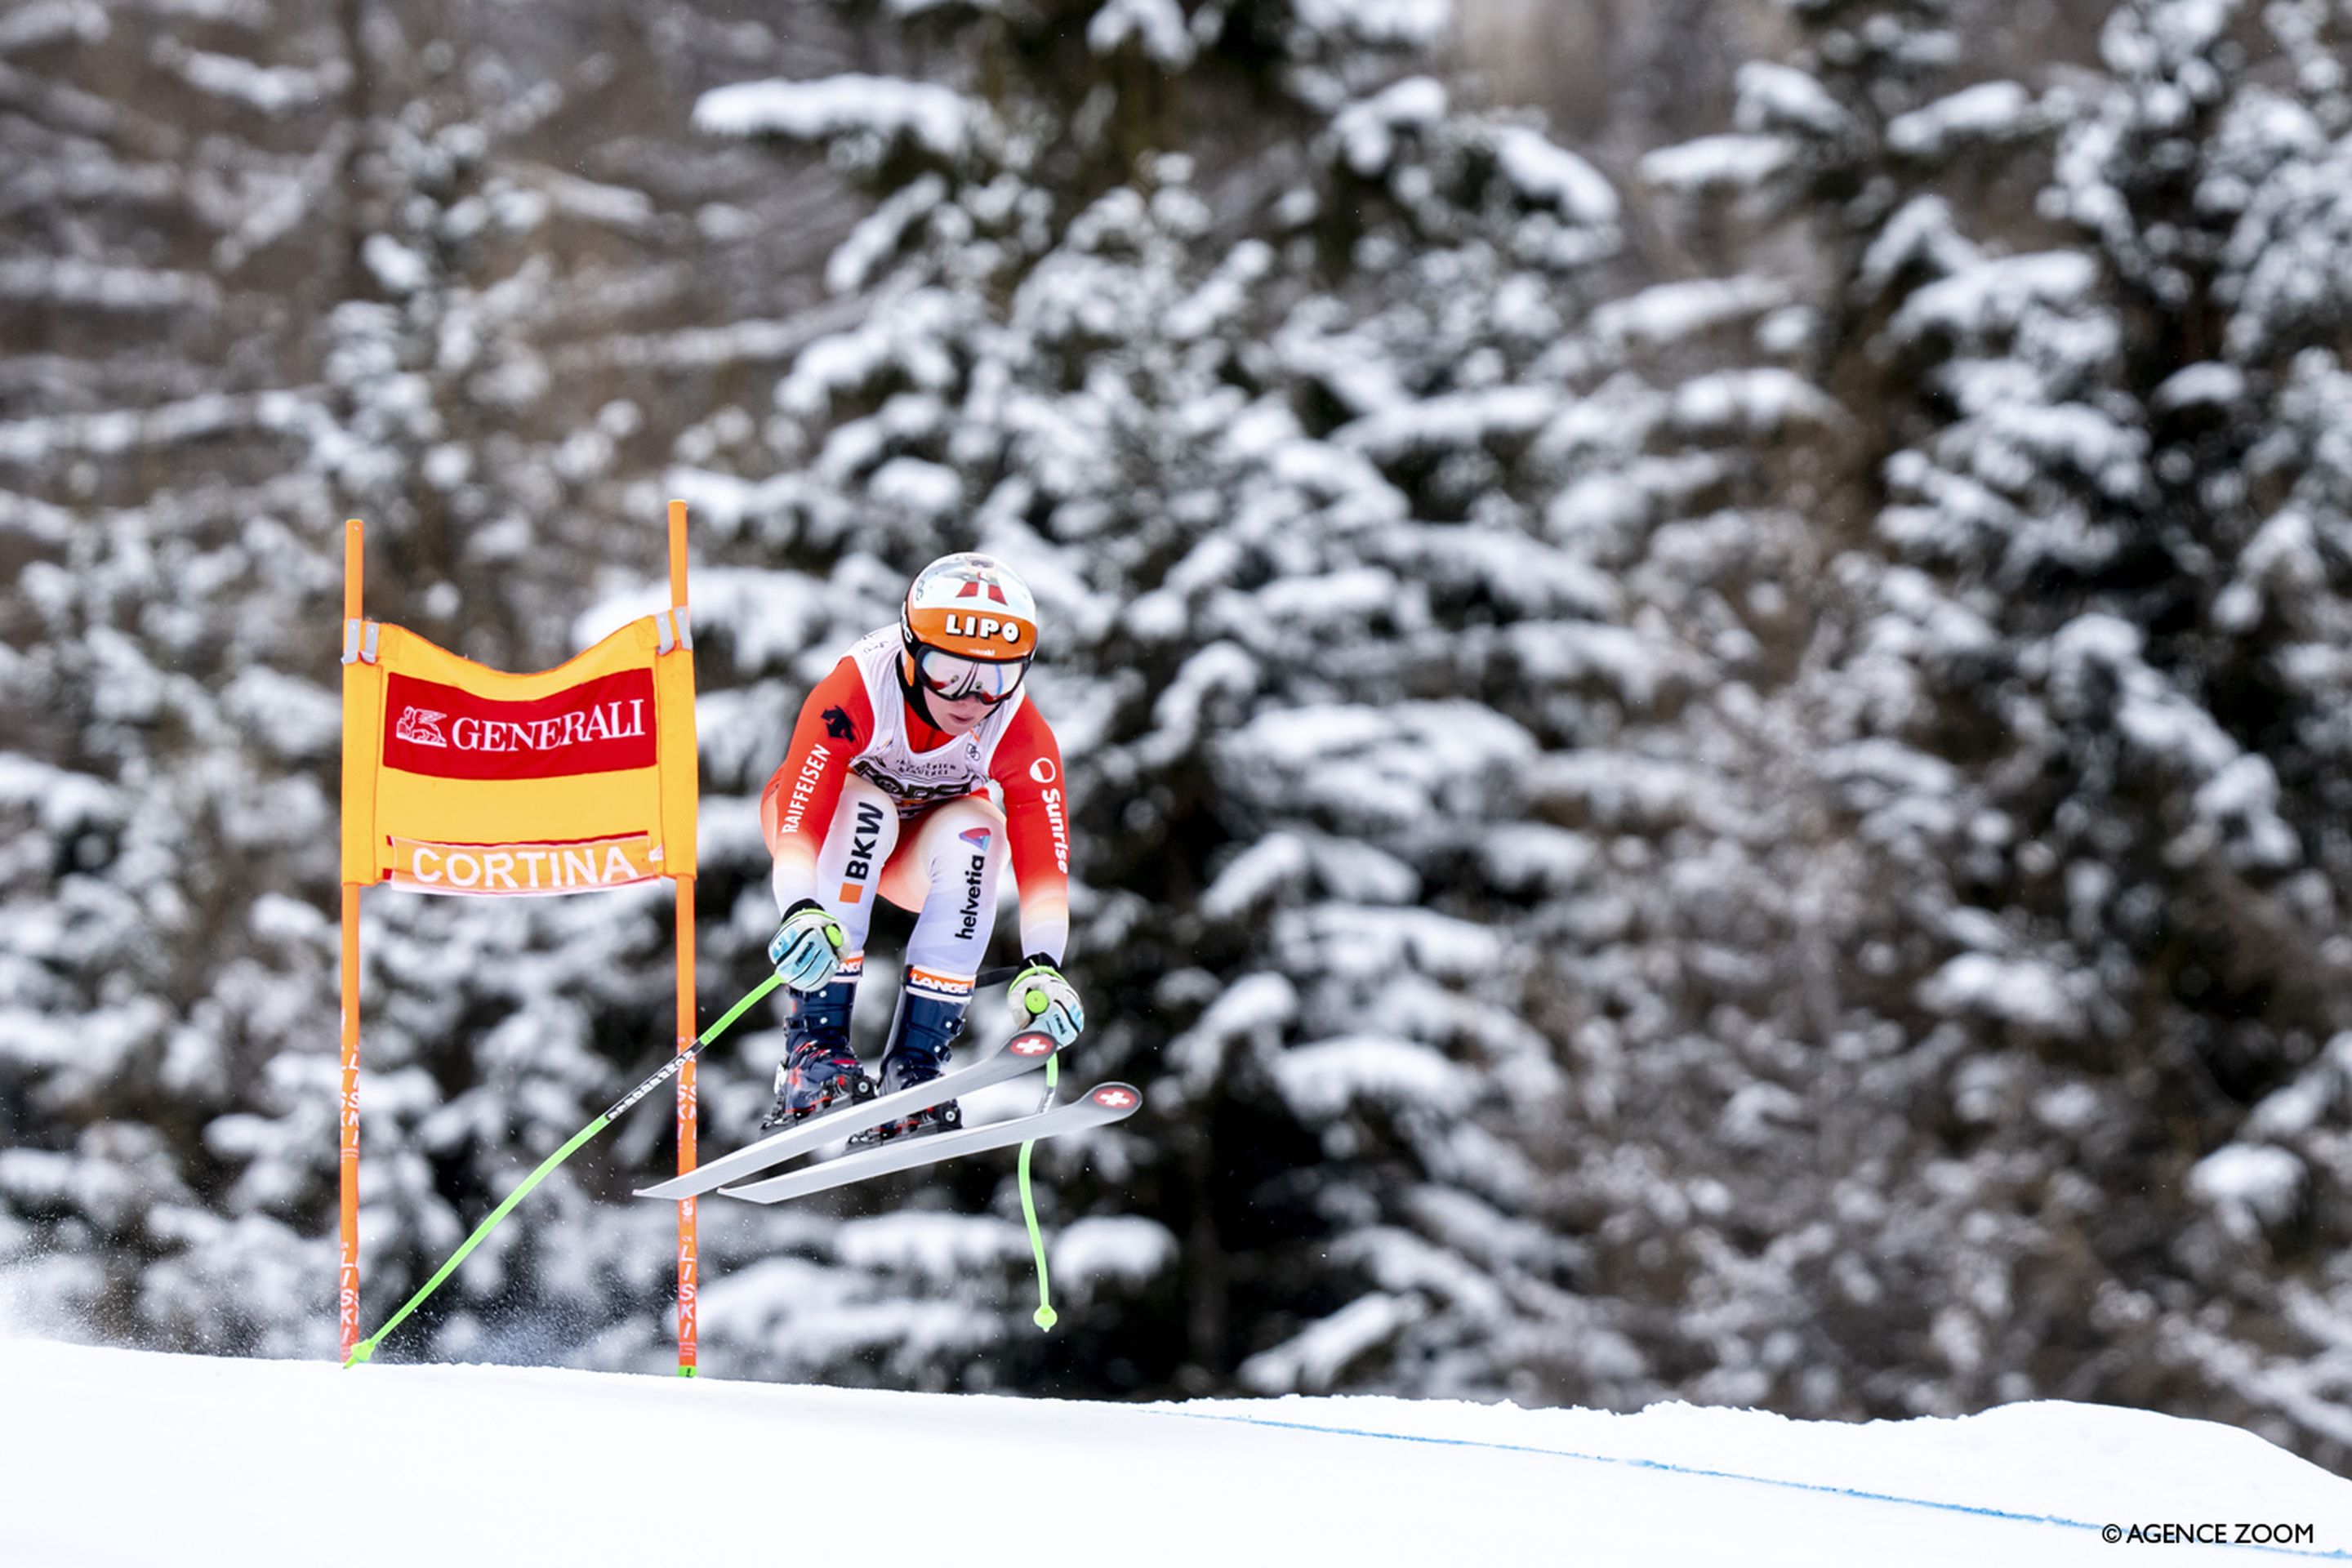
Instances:
[[[684,611],[508,675],[360,623],[343,665],[343,882],[581,893],[694,875]],[[682,635],[684,632],[684,635]]]

